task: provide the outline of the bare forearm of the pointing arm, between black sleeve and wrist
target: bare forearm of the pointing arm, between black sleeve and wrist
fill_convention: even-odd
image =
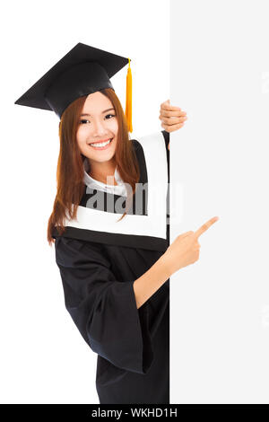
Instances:
[[[164,255],[158,259],[143,276],[134,281],[134,295],[137,308],[145,303],[172,275]]]

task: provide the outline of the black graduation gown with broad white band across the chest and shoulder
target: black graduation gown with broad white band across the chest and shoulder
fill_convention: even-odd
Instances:
[[[132,142],[140,166],[140,181],[148,182],[146,198],[149,200],[150,180],[157,177],[154,166],[166,182],[166,196],[163,192],[161,196],[161,201],[166,198],[166,214],[159,216],[162,219],[165,216],[165,236],[163,220],[155,225],[145,220],[150,235],[147,235],[147,224],[142,231],[135,232],[139,217],[150,215],[147,201],[142,215],[130,220],[130,224],[134,224],[131,231],[128,225],[109,232],[95,230],[98,222],[87,225],[83,214],[79,215],[79,224],[66,225],[62,236],[56,228],[54,231],[65,307],[82,338],[98,354],[96,389],[100,404],[169,404],[169,279],[138,309],[133,287],[134,280],[151,268],[169,246],[166,219],[169,215],[169,133],[161,131],[157,137],[159,147],[155,155],[152,152],[152,157],[153,137],[145,137],[143,142],[132,139]],[[89,189],[88,193],[85,191],[80,204],[82,213],[86,211],[87,199],[97,193],[94,190],[90,194]],[[117,195],[114,197],[117,199]],[[98,204],[95,209],[98,211]],[[106,209],[105,206],[101,210],[103,215],[113,214]],[[94,213],[93,208],[92,211]],[[157,225],[162,225],[162,232]]]

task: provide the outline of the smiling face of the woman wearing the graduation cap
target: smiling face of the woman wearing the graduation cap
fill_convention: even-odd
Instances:
[[[117,117],[112,102],[101,92],[89,94],[82,109],[76,134],[80,152],[94,164],[113,160],[117,145],[117,130]],[[107,142],[104,143],[111,138],[112,141],[108,145]],[[104,145],[100,145],[102,143]]]

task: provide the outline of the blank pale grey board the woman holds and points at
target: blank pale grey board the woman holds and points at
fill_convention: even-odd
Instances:
[[[267,1],[170,2],[171,241],[214,215],[170,279],[170,402],[269,402]]]

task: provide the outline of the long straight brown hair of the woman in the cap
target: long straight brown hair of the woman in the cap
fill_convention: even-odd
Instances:
[[[140,179],[139,165],[133,144],[129,139],[124,110],[116,93],[111,88],[100,90],[100,92],[108,97],[116,111],[118,131],[115,161],[117,171],[121,179],[132,187],[131,196],[127,193],[127,209],[127,205],[131,203],[134,195],[135,183],[138,183]],[[55,242],[55,239],[52,237],[52,231],[55,225],[57,225],[57,232],[61,235],[65,231],[65,218],[76,218],[77,207],[81,202],[84,192],[83,160],[85,157],[79,150],[76,133],[87,96],[83,95],[69,104],[59,123],[60,151],[56,167],[56,198],[52,214],[48,219],[48,243],[50,246]],[[125,215],[126,211],[119,220]]]

